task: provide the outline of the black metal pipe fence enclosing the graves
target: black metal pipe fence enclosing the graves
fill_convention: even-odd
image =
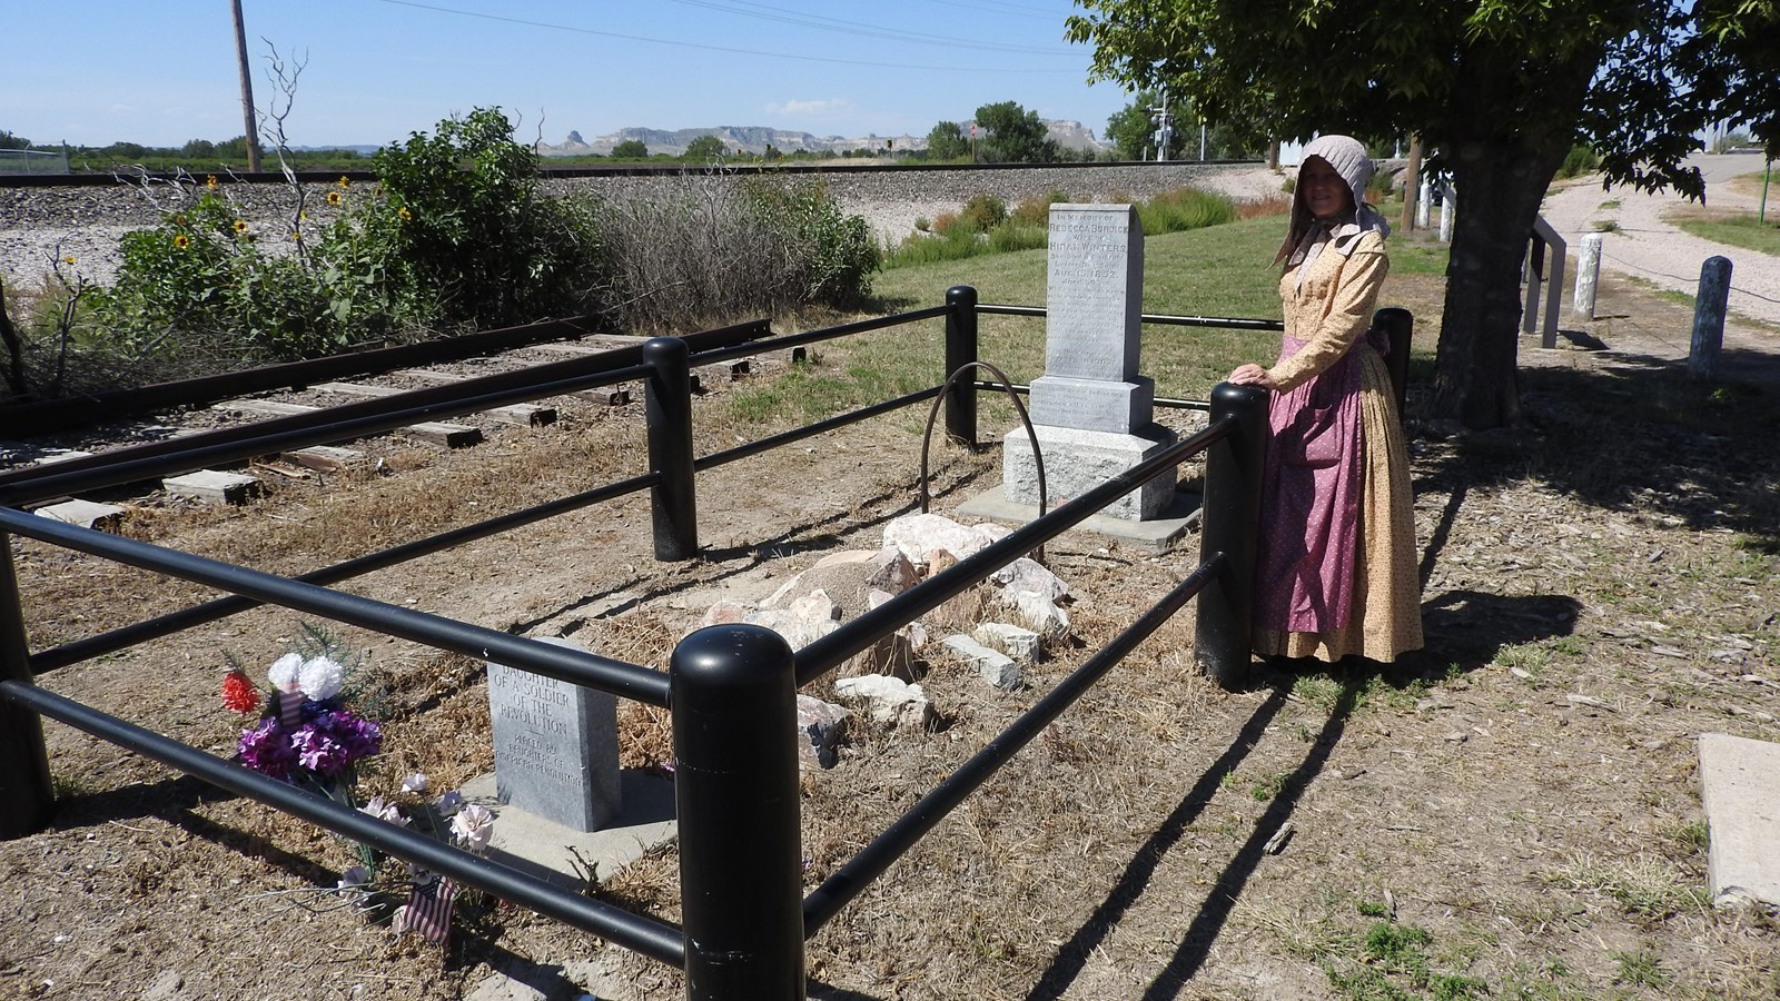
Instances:
[[[908,394],[698,458],[692,454],[689,379],[692,363],[716,363],[943,317],[947,330],[945,367],[949,372],[956,372],[977,360],[977,315],[986,312],[1041,313],[1041,310],[1022,306],[979,306],[974,289],[958,287],[947,294],[943,306],[821,331],[764,337],[765,324],[744,324],[687,338],[655,338],[639,351],[609,353],[548,367],[545,378],[532,379],[529,385],[475,379],[443,387],[452,392],[420,390],[338,408],[326,417],[304,415],[267,420],[251,431],[194,435],[176,442],[123,449],[94,460],[0,476],[0,802],[7,803],[7,809],[0,810],[0,837],[23,837],[50,823],[55,802],[41,727],[41,718],[46,716],[450,876],[463,885],[484,889],[628,949],[682,967],[687,978],[687,996],[692,999],[803,997],[805,940],[1185,602],[1200,598],[1196,620],[1200,663],[1221,684],[1237,684],[1244,677],[1250,664],[1250,590],[1266,438],[1266,394],[1262,390],[1219,385],[1207,403],[1196,404],[1210,410],[1210,424],[1198,435],[1009,533],[956,566],[796,652],[783,638],[762,627],[717,625],[684,639],[671,655],[668,673],[662,675],[598,654],[335,591],[328,584],[644,488],[651,492],[657,557],[687,559],[698,552],[696,474],[700,470],[929,401],[942,392],[940,387],[934,387]],[[1146,322],[1189,326],[1278,330],[1276,324],[1269,326],[1269,321],[1145,319]],[[1408,313],[1403,313],[1401,319],[1406,321]],[[1401,342],[1403,349],[1392,354],[1401,369],[1401,362],[1406,358],[1406,322],[1397,330],[1396,340]],[[650,472],[427,540],[324,566],[301,577],[262,574],[59,524],[18,509],[27,502],[78,490],[189,472],[217,461],[336,442],[354,435],[400,427],[415,420],[470,413],[488,406],[543,399],[627,379],[644,379],[646,383]],[[965,444],[977,440],[975,388],[975,385],[968,385],[965,392],[952,394],[945,401],[947,435]],[[1200,565],[1148,613],[1093,654],[1032,709],[1015,720],[1004,734],[990,741],[984,750],[927,793],[908,814],[892,823],[876,841],[805,898],[794,743],[797,686],[833,670],[922,613],[977,584],[1006,563],[1041,547],[1148,479],[1202,452],[1207,470]],[[25,632],[23,595],[12,565],[11,536],[14,534],[206,584],[226,591],[228,597],[34,652]],[[477,659],[498,659],[516,670],[671,709],[684,926],[675,928],[651,917],[635,916],[564,891],[541,878],[443,846],[324,796],[267,778],[235,762],[53,695],[34,682],[44,671],[114,654],[262,604],[283,606]]]

